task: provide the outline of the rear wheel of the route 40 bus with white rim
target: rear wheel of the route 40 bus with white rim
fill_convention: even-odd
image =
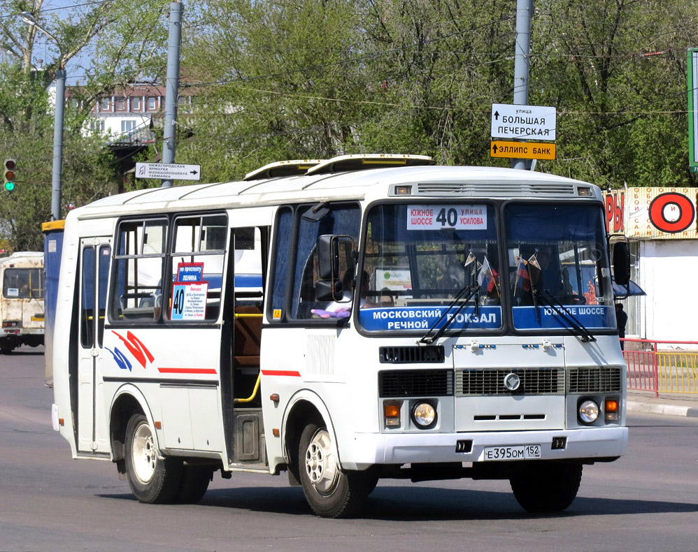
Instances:
[[[181,460],[159,458],[148,419],[141,413],[131,416],[126,426],[126,474],[131,491],[139,502],[173,502],[182,487]]]

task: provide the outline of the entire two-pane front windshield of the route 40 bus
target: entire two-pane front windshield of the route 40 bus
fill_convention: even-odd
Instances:
[[[364,330],[497,331],[508,316],[517,331],[613,328],[597,205],[507,203],[501,252],[496,213],[484,201],[373,206],[359,311]]]

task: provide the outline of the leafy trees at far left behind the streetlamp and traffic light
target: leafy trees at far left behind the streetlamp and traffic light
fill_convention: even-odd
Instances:
[[[50,219],[53,103],[47,87],[58,68],[80,78],[66,104],[64,212],[111,193],[120,175],[103,140],[85,133],[101,96],[124,82],[164,72],[164,0],[106,0],[45,8],[43,0],[0,0],[0,152],[17,159],[17,188],[3,192],[0,231],[14,249],[41,249],[41,222]],[[19,17],[29,12],[47,34]],[[50,35],[50,36],[48,36]],[[34,66],[37,45],[50,59]],[[6,86],[9,84],[8,86]]]

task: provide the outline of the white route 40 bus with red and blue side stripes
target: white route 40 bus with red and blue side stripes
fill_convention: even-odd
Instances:
[[[54,427],[141,502],[285,472],[327,517],[380,478],[560,511],[627,444],[610,259],[592,184],[420,156],[104,198],[66,219]]]

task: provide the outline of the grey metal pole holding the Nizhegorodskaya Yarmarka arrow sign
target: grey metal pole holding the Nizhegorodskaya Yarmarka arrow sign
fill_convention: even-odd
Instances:
[[[167,78],[165,83],[165,122],[162,145],[162,163],[174,163],[175,131],[177,126],[177,95],[179,89],[179,45],[182,36],[181,2],[170,3],[169,46],[167,50]],[[172,186],[171,179],[162,179],[162,188]]]

